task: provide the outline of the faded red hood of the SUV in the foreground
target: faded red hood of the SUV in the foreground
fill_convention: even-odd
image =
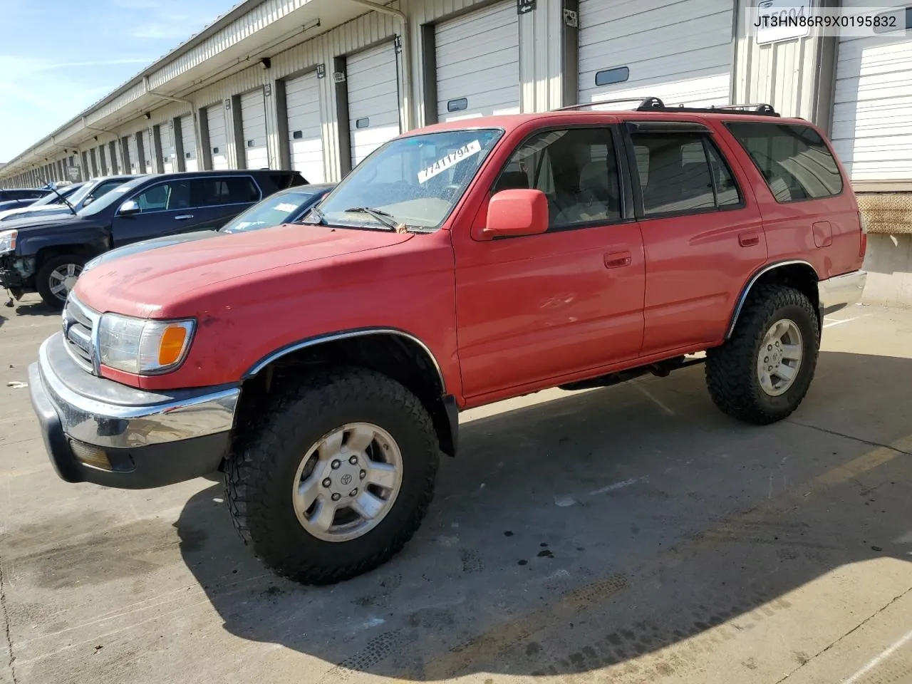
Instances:
[[[189,299],[212,295],[219,284],[251,285],[264,272],[408,241],[411,233],[285,225],[214,235],[112,259],[79,277],[78,298],[97,311],[156,317]],[[305,271],[301,266],[295,271]]]

